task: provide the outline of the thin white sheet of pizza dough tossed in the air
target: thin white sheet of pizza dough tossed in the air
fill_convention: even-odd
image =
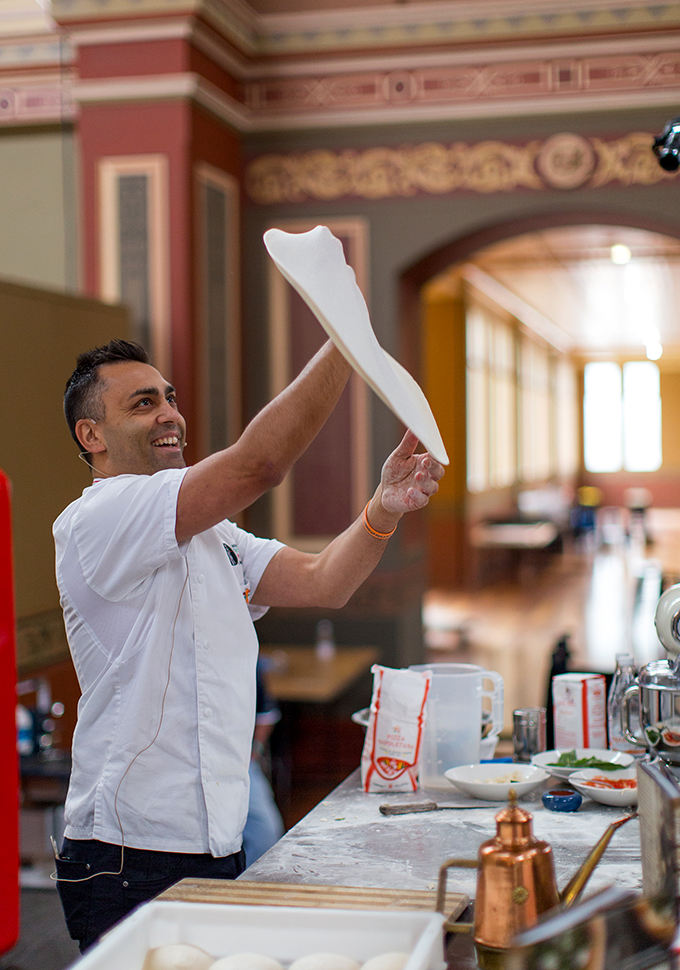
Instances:
[[[302,233],[269,229],[264,244],[340,353],[430,454],[448,465],[427,398],[408,371],[378,343],[340,240],[326,226],[317,226]]]

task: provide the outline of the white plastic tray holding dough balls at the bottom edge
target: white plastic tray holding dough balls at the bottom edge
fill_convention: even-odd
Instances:
[[[151,902],[140,906],[73,964],[77,970],[141,970],[147,950],[192,943],[216,959],[250,950],[284,967],[308,953],[342,953],[363,963],[411,954],[404,970],[444,970],[444,917],[416,911],[311,909]]]

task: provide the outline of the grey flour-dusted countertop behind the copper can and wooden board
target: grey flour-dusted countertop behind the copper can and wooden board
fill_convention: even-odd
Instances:
[[[554,787],[554,779],[551,779]],[[546,784],[550,784],[547,782]],[[240,877],[244,880],[327,885],[432,889],[449,856],[475,858],[479,844],[496,833],[499,807],[385,817],[383,802],[435,801],[455,804],[451,789],[413,794],[367,795],[357,769]],[[533,813],[534,835],[553,846],[557,884],[562,888],[607,826],[625,811],[584,800],[572,814],[548,812],[532,792],[519,804]],[[640,826],[620,828],[595,869],[588,892],[612,883],[640,891]],[[449,886],[474,898],[474,870],[452,871]]]

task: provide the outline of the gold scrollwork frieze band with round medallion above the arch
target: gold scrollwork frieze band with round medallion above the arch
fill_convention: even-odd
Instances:
[[[277,205],[453,192],[566,191],[613,182],[653,185],[676,177],[659,167],[651,152],[653,139],[647,132],[611,141],[565,132],[524,145],[425,142],[261,155],[246,168],[246,190],[259,205]]]

